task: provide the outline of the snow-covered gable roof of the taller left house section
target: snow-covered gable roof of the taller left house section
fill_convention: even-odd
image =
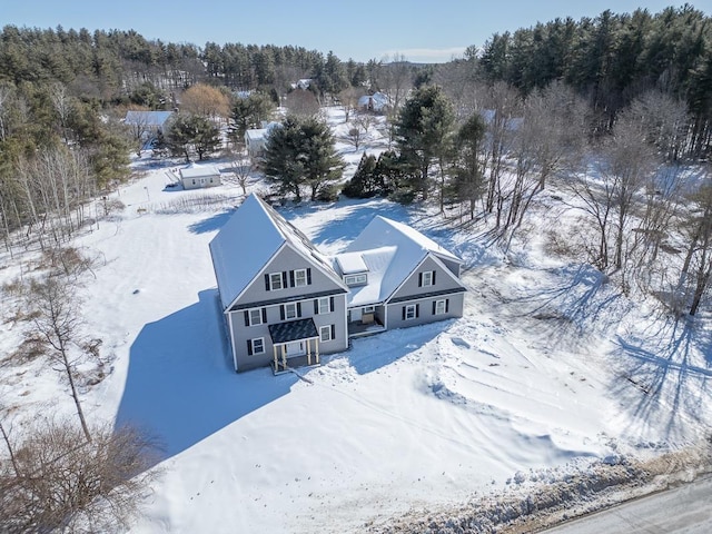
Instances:
[[[285,244],[290,245],[343,287],[330,263],[312,241],[259,196],[253,194],[210,241],[222,309],[227,309],[240,296]]]

